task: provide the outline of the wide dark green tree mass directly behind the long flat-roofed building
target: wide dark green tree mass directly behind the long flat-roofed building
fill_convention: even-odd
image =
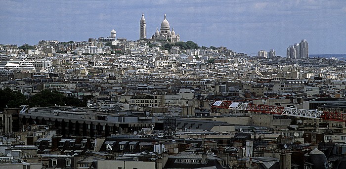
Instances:
[[[86,107],[86,103],[78,98],[66,97],[56,90],[42,90],[31,97],[28,102],[30,107],[55,105]]]

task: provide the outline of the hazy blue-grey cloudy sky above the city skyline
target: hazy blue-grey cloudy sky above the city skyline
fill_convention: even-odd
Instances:
[[[151,37],[167,14],[181,41],[257,55],[307,40],[309,54],[346,54],[346,0],[0,0],[0,43]]]

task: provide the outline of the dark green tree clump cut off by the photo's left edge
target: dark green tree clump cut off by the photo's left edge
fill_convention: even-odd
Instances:
[[[25,95],[19,91],[12,91],[8,87],[0,89],[0,111],[6,108],[18,108],[20,105],[26,105]]]

